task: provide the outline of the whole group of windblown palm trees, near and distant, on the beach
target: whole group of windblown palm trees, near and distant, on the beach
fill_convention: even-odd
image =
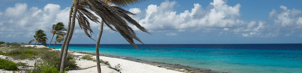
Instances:
[[[134,46],[136,49],[138,47],[134,43],[134,40],[140,41],[140,39],[136,36],[136,33],[134,32],[133,28],[131,28],[129,24],[132,24],[136,26],[138,29],[140,29],[143,32],[149,33],[144,27],[142,27],[137,21],[133,20],[129,15],[136,15],[129,11],[124,10],[121,7],[127,7],[129,5],[134,5],[140,2],[145,2],[148,0],[73,0],[72,6],[69,11],[69,22],[67,29],[64,29],[63,23],[58,23],[56,25],[53,25],[53,30],[51,30],[51,33],[53,33],[53,36],[56,34],[56,42],[62,41],[63,44],[61,47],[60,52],[60,60],[59,60],[59,68],[58,70],[60,72],[64,71],[66,67],[65,61],[66,56],[68,52],[68,46],[70,43],[70,40],[73,35],[74,27],[75,27],[75,21],[78,20],[79,26],[84,31],[84,33],[92,39],[92,29],[90,27],[89,20],[101,24],[100,32],[98,34],[98,39],[96,43],[96,61],[97,61],[97,71],[98,73],[101,73],[101,67],[100,67],[100,59],[99,59],[99,50],[98,47],[100,45],[100,39],[103,32],[103,25],[104,23],[114,31],[117,31],[120,33],[121,36],[125,38],[132,46]],[[94,13],[94,14],[93,14]],[[99,21],[101,20],[101,22]],[[58,26],[58,25],[63,26]],[[56,26],[56,27],[54,27]],[[38,30],[39,32],[42,32],[43,30]],[[40,35],[40,34],[35,35]],[[63,31],[66,31],[64,33]],[[44,32],[44,31],[43,31]],[[42,33],[43,33],[42,32]],[[45,33],[44,33],[45,34]],[[35,37],[34,35],[34,37]],[[63,35],[65,35],[65,39],[63,39]],[[40,36],[39,36],[40,37]],[[40,42],[39,39],[36,38],[36,42]],[[58,39],[58,40],[57,40]],[[41,39],[43,40],[43,39]],[[46,41],[46,34],[43,41]],[[94,39],[92,39],[94,40]],[[31,43],[32,41],[30,41]],[[55,44],[56,44],[55,42]],[[46,45],[46,42],[42,43],[43,45]]]

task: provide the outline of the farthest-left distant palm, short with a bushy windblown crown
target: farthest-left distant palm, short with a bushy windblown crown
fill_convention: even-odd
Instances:
[[[28,42],[28,44],[32,43],[33,41],[36,41],[35,43],[35,46],[37,43],[42,43],[44,46],[46,46],[46,42],[47,42],[47,37],[46,37],[46,34],[44,33],[43,30],[37,30],[35,35],[34,35],[34,38],[33,40],[30,40]]]

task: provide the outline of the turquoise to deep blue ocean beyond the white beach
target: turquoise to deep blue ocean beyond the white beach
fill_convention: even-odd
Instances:
[[[53,45],[53,44],[52,44]],[[302,73],[302,44],[100,44],[100,54],[229,73]],[[52,47],[52,46],[51,46]],[[61,44],[56,44],[56,49]],[[95,53],[95,44],[69,50]]]

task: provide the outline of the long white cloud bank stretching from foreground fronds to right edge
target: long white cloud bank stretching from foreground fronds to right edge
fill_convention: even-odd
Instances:
[[[210,9],[204,9],[200,4],[194,3],[191,10],[176,14],[174,7],[177,2],[166,0],[160,5],[149,5],[144,11],[139,8],[131,8],[129,11],[138,14],[132,17],[150,31],[189,30],[208,33],[224,30],[240,34],[242,37],[276,37],[283,31],[300,32],[298,29],[302,26],[302,17],[298,15],[301,15],[301,10],[289,10],[286,6],[280,6],[280,10],[272,9],[268,13],[268,17],[274,21],[274,24],[271,24],[266,21],[240,20],[241,5],[230,6],[226,3],[223,0],[214,0],[210,2],[210,7],[207,7]],[[133,28],[138,30],[134,26]]]

